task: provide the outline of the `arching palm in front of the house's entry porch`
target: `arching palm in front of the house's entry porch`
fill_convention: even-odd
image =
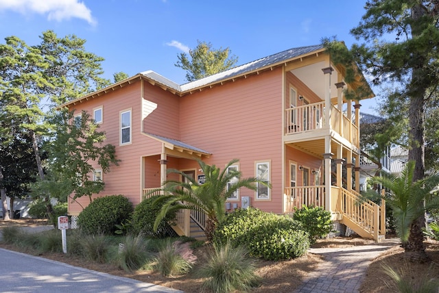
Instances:
[[[239,160],[231,160],[226,167],[221,170],[215,165],[208,165],[201,160],[198,164],[205,175],[204,183],[198,183],[194,178],[181,172],[180,170],[170,169],[168,173],[177,173],[182,176],[182,181],[169,180],[163,183],[160,196],[154,205],[161,205],[154,230],[158,224],[169,213],[178,209],[201,209],[207,216],[204,233],[208,240],[212,240],[213,232],[219,222],[226,216],[226,200],[233,196],[233,193],[241,187],[256,190],[255,183],[268,186],[264,181],[250,177],[241,179],[241,172],[233,168],[228,168]],[[156,192],[156,190],[153,190]]]

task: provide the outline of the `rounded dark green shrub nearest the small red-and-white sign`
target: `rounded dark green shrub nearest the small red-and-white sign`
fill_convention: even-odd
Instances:
[[[78,225],[84,233],[112,234],[115,225],[132,215],[132,204],[123,195],[99,197],[90,203],[78,216]]]

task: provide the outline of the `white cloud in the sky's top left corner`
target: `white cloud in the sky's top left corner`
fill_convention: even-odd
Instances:
[[[91,10],[80,0],[0,0],[1,10],[12,10],[21,14],[45,14],[49,21],[80,18],[91,25],[97,24]]]

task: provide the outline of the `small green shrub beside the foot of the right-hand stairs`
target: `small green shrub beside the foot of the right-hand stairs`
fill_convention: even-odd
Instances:
[[[301,222],[303,229],[309,233],[311,244],[333,231],[331,212],[325,211],[322,207],[303,206],[294,211],[293,218]]]

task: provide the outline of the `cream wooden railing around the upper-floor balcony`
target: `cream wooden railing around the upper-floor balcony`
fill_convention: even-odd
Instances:
[[[291,107],[285,110],[285,135],[321,136],[327,131],[338,133],[353,146],[359,147],[359,129],[337,107],[331,105],[329,117],[324,102]]]

